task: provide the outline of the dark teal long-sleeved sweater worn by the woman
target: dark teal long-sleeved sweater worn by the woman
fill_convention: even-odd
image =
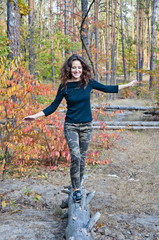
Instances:
[[[68,82],[66,87],[59,86],[55,100],[43,110],[45,116],[56,111],[63,97],[67,102],[65,121],[69,123],[86,123],[92,121],[90,94],[92,89],[107,93],[117,93],[118,85],[107,86],[91,79],[86,88],[79,82]]]

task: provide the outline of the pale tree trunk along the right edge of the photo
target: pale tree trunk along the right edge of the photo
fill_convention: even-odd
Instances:
[[[151,60],[150,70],[150,89],[156,85],[157,77],[153,76],[153,72],[157,69],[157,24],[159,22],[159,0],[153,0],[152,23],[151,23]]]

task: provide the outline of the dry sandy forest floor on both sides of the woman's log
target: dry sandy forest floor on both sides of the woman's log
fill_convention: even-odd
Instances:
[[[101,153],[112,163],[86,168],[85,188],[96,191],[91,215],[101,213],[92,233],[96,240],[159,240],[159,130],[116,132],[120,139]],[[0,211],[0,239],[64,239],[66,210],[60,204],[66,194],[61,190],[69,184],[68,168],[32,169],[22,178],[7,175],[0,186],[0,197],[8,200]]]

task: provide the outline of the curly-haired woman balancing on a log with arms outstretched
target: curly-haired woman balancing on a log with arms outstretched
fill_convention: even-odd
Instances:
[[[91,69],[85,59],[73,54],[61,69],[61,84],[55,100],[43,111],[25,117],[25,121],[48,116],[56,111],[63,97],[67,102],[64,134],[70,150],[70,177],[73,187],[73,199],[80,202],[80,184],[85,169],[85,158],[92,138],[92,113],[90,94],[92,89],[102,92],[117,93],[118,90],[133,86],[136,80],[124,84],[106,86],[91,79]]]

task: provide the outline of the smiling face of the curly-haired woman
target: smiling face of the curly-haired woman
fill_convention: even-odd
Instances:
[[[71,80],[72,81],[80,81],[81,80],[81,75],[82,75],[83,69],[82,69],[82,64],[78,60],[74,60],[72,62],[72,67],[71,67]]]

